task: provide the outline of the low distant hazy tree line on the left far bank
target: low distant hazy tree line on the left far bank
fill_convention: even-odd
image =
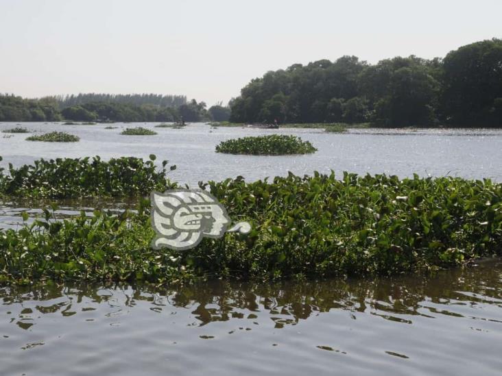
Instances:
[[[79,96],[70,96],[69,98]],[[79,104],[62,105],[58,97],[23,99],[14,95],[0,95],[0,121],[226,121],[230,109],[222,103],[206,108],[206,103],[195,99],[174,105],[155,103],[123,103],[128,95],[110,96],[106,101],[81,101]],[[154,96],[153,96],[154,97]],[[158,96],[158,99],[166,96]],[[81,97],[83,99],[84,97]],[[93,98],[88,97],[88,99]],[[96,97],[96,98],[99,98]],[[103,97],[104,98],[104,97]],[[119,101],[115,101],[119,98]],[[182,98],[182,96],[179,96]],[[69,102],[67,102],[69,103]],[[167,103],[167,102],[166,102]]]

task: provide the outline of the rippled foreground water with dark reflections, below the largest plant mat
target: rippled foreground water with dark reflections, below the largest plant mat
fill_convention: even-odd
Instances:
[[[0,289],[6,375],[499,375],[502,262],[432,277]]]

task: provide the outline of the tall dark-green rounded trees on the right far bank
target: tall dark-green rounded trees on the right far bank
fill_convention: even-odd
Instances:
[[[444,59],[294,64],[252,79],[230,108],[237,123],[501,127],[502,40],[475,42]]]

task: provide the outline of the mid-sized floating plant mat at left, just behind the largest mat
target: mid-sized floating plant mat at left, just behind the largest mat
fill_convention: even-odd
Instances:
[[[36,160],[14,168],[8,174],[0,168],[0,194],[23,197],[135,197],[169,186],[165,175],[167,161],[157,171],[154,160],[112,158],[108,162],[94,158],[57,158]],[[1,157],[0,157],[1,161]],[[176,166],[171,166],[174,170]]]

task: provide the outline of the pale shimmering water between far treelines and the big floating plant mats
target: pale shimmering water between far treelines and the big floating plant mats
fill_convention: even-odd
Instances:
[[[29,142],[29,134],[3,138],[0,133],[0,155],[6,166],[31,164],[38,158],[84,157],[100,155],[109,159],[119,156],[169,160],[178,169],[169,177],[181,183],[196,185],[198,181],[222,180],[242,175],[253,181],[292,171],[299,175],[313,171],[342,176],[351,173],[387,173],[409,177],[460,176],[473,179],[490,177],[502,181],[501,129],[352,129],[346,134],[325,133],[323,129],[249,129],[220,127],[195,123],[185,129],[154,128],[157,123],[115,123],[106,125],[61,125],[22,123],[37,131],[67,131],[80,136],[80,142]],[[0,131],[16,123],[0,123]],[[157,136],[121,136],[125,127],[154,129]],[[313,143],[318,151],[312,155],[252,156],[215,152],[222,140],[261,134],[294,134]]]

